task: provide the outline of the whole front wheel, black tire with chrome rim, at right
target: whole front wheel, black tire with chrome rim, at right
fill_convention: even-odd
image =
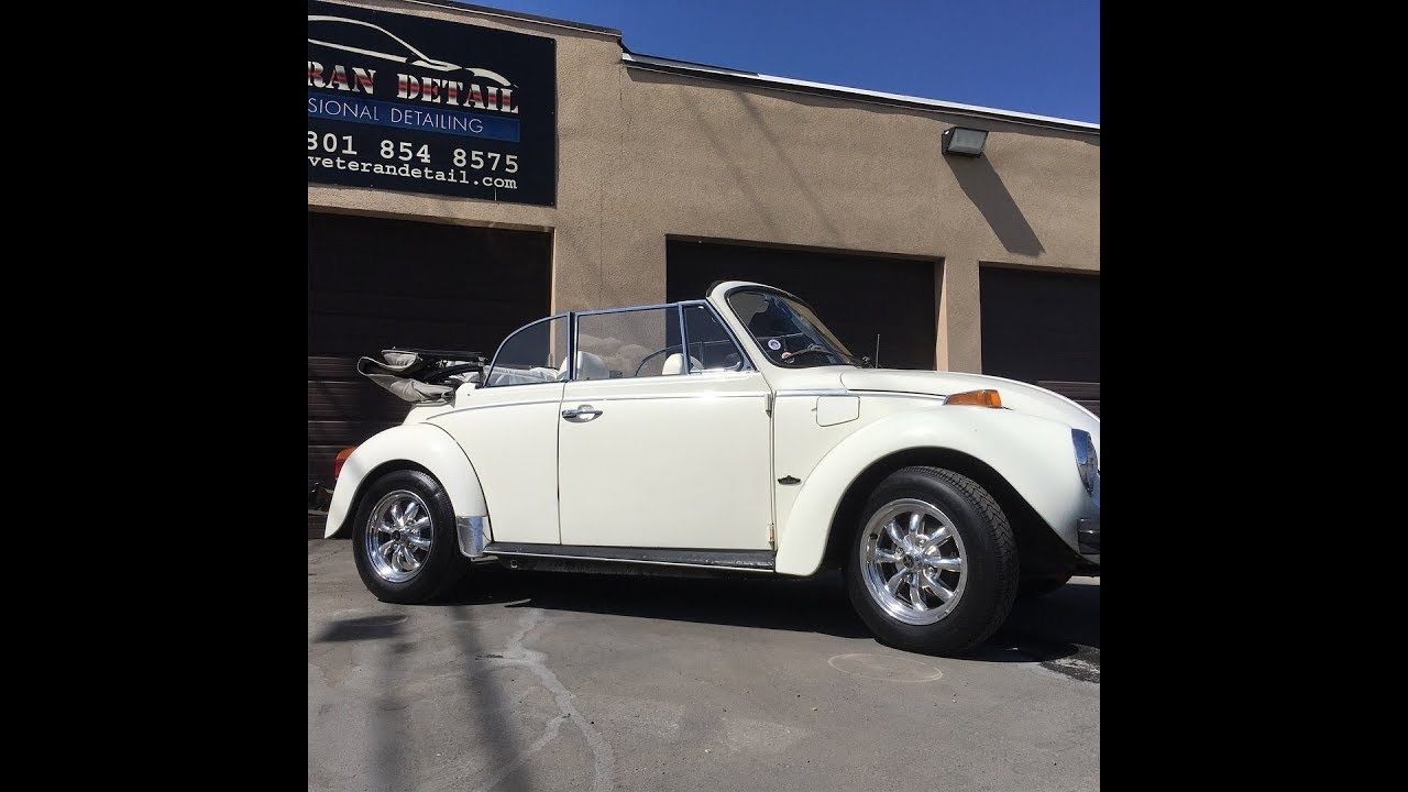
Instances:
[[[846,589],[881,643],[960,654],[1001,627],[1017,599],[1017,540],[973,479],[942,468],[891,474],[866,502]]]

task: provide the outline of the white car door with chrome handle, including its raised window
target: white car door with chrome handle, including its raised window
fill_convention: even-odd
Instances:
[[[712,309],[580,313],[574,349],[558,430],[562,543],[770,548],[770,392]]]

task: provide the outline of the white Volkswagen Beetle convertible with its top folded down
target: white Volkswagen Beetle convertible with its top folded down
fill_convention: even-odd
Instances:
[[[487,368],[422,368],[451,376],[408,375],[415,361],[363,358],[415,406],[346,458],[328,509],[386,602],[431,600],[482,557],[841,568],[883,641],[952,654],[1019,589],[1098,574],[1100,419],[1022,382],[869,368],[770,286],[551,316]]]

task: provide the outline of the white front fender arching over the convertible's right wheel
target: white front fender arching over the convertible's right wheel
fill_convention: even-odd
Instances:
[[[988,407],[905,410],[856,431],[817,464],[779,531],[777,572],[814,574],[821,567],[836,507],[850,485],[879,459],[914,448],[949,448],[981,459],[1071,550],[1079,548],[1076,520],[1100,516],[1076,469],[1070,426]]]

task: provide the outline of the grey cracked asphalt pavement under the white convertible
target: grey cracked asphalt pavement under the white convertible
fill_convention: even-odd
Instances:
[[[310,791],[890,788],[1100,788],[1098,578],[956,660],[877,643],[835,574],[489,562],[400,606],[308,541]]]

